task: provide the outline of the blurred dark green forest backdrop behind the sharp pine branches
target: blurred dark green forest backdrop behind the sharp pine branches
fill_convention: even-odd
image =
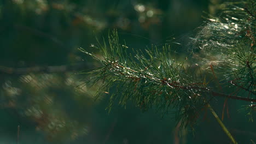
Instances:
[[[173,40],[178,47],[203,25],[203,11],[215,15],[219,3],[0,1],[0,143],[228,143],[207,112],[194,133],[176,127],[171,114],[143,112],[132,103],[126,109],[114,105],[108,113],[108,98],[95,100],[97,86],[81,85],[85,75],[75,75],[99,66],[78,50],[96,52],[90,47],[96,37],[101,42],[116,28],[133,49]],[[216,105],[221,115],[223,101]],[[239,108],[230,106],[224,123],[238,142],[249,142],[256,137],[255,124]]]

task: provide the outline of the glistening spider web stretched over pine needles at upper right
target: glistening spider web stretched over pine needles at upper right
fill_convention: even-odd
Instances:
[[[233,4],[225,3],[218,17],[210,16],[208,22],[196,28],[196,34],[189,38],[188,52],[204,69],[210,69],[209,65],[217,68],[227,64],[238,66],[232,56],[236,54],[234,47],[240,47],[246,53],[249,51],[245,41],[248,39],[247,32],[252,31],[248,29],[254,25],[249,20],[253,17],[245,8]]]

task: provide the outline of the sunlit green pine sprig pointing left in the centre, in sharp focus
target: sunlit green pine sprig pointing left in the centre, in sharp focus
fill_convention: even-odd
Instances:
[[[161,50],[153,47],[145,52],[133,50],[136,53],[133,56],[127,53],[130,48],[119,44],[117,31],[113,31],[108,46],[104,43],[96,48],[102,53],[102,59],[80,50],[103,65],[91,71],[95,76],[89,83],[103,80],[97,95],[109,91],[109,110],[115,100],[123,106],[132,100],[142,110],[152,107],[164,113],[174,110],[176,118],[182,119],[184,125],[195,122],[199,110],[205,106],[206,98],[201,98],[202,93],[210,89],[201,80],[188,75],[184,62],[179,63],[172,57],[170,46],[165,45]]]

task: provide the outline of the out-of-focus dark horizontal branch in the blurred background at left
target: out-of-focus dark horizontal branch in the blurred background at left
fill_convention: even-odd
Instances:
[[[92,68],[90,64],[58,65],[48,67],[10,68],[0,65],[0,75],[26,75],[30,73],[65,73]]]

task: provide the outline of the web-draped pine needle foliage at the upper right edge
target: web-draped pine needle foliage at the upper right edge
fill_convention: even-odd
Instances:
[[[208,65],[216,66],[214,70],[223,75],[223,84],[238,88],[233,94],[249,92],[248,97],[256,94],[255,4],[253,1],[224,3],[220,16],[211,16],[210,22],[191,38],[193,48],[190,49],[200,51],[201,65],[208,69],[211,68]]]

